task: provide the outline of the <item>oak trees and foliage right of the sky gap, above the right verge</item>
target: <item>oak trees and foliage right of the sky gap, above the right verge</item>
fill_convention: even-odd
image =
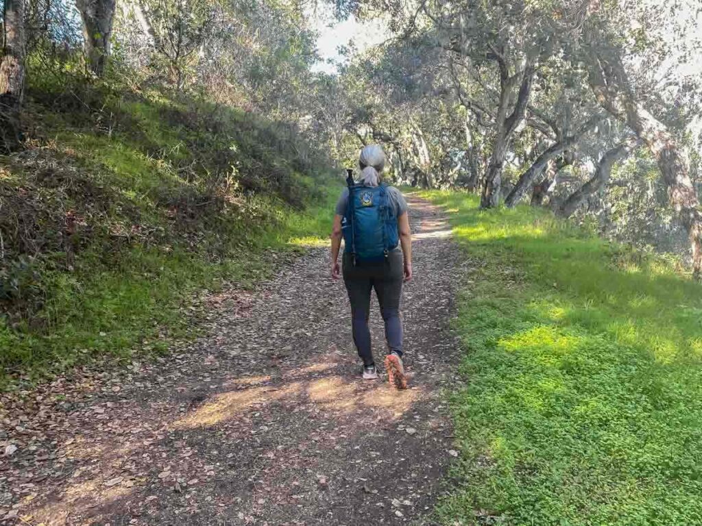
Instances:
[[[702,265],[702,45],[692,1],[369,0],[395,38],[340,83],[350,150],[380,141],[395,177],[530,200]],[[691,250],[692,248],[692,250]]]

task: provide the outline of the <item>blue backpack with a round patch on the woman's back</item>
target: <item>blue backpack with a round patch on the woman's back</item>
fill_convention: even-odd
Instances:
[[[382,261],[397,247],[397,215],[388,202],[388,187],[365,187],[347,179],[349,197],[341,223],[344,252],[357,261]]]

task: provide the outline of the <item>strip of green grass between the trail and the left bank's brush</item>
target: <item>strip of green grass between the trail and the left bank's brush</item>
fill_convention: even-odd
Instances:
[[[41,330],[26,322],[8,328],[0,318],[0,387],[16,384],[19,372],[33,382],[109,354],[164,350],[164,337],[190,337],[187,307],[200,290],[216,290],[225,281],[242,288],[270,275],[279,257],[293,257],[304,245],[326,243],[331,231],[333,192],[304,211],[270,205],[279,217],[251,227],[241,248],[220,262],[176,248],[137,246],[105,269],[100,255],[84,253],[74,271],[44,271],[47,301],[39,316]],[[277,254],[276,258],[271,255]]]

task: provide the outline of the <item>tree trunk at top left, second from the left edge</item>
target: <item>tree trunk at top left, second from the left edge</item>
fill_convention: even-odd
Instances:
[[[83,20],[88,67],[101,76],[110,57],[115,0],[76,0]]]

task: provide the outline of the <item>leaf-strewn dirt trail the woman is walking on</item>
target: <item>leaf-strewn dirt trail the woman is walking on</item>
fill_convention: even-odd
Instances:
[[[59,380],[32,393],[34,410],[6,398],[0,445],[18,450],[0,457],[0,522],[430,523],[451,460],[439,391],[456,375],[461,258],[442,213],[410,204],[411,389],[357,379],[343,283],[313,249],[254,292],[211,298],[210,336],[174,355],[88,385]],[[377,307],[371,318],[382,363]],[[52,398],[58,389],[68,397]]]

